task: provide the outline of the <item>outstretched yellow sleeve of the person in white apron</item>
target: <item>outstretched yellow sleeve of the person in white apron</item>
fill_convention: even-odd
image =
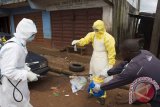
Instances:
[[[93,41],[94,33],[88,33],[84,38],[81,38],[79,42],[77,43],[78,46],[85,46],[88,45]]]

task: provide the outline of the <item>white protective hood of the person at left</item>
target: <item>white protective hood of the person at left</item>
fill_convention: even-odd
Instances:
[[[37,33],[37,28],[34,22],[30,19],[23,18],[17,25],[16,33],[14,36],[26,45],[26,41],[34,34]]]

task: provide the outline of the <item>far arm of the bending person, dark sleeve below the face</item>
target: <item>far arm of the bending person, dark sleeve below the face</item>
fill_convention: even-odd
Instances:
[[[107,73],[109,76],[112,76],[112,75],[116,75],[116,74],[119,74],[123,71],[124,69],[124,66],[127,64],[128,62],[127,61],[123,61],[121,62],[119,65],[113,67],[112,69],[110,69]]]

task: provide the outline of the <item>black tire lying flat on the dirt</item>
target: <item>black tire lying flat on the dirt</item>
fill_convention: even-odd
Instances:
[[[82,72],[84,71],[84,66],[79,63],[71,63],[69,65],[69,70],[73,72]]]

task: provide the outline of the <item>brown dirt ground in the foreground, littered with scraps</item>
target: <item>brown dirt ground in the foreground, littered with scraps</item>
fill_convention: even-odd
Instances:
[[[96,98],[88,98],[87,87],[73,94],[69,78],[49,73],[35,83],[29,84],[31,90],[31,103],[34,107],[102,107]],[[59,92],[54,94],[51,87],[57,87]],[[129,105],[128,91],[115,89],[107,92],[104,107],[150,107],[149,105]]]

